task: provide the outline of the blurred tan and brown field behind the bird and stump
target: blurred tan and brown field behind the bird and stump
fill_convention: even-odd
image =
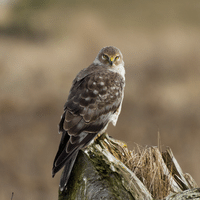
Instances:
[[[118,47],[126,89],[109,135],[172,148],[200,185],[200,1],[0,0],[0,199],[57,199],[51,178],[72,80]]]

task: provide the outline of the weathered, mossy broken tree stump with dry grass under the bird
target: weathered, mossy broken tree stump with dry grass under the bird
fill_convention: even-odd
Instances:
[[[101,135],[80,151],[59,200],[200,199],[200,189],[184,174],[170,148],[137,147]]]

